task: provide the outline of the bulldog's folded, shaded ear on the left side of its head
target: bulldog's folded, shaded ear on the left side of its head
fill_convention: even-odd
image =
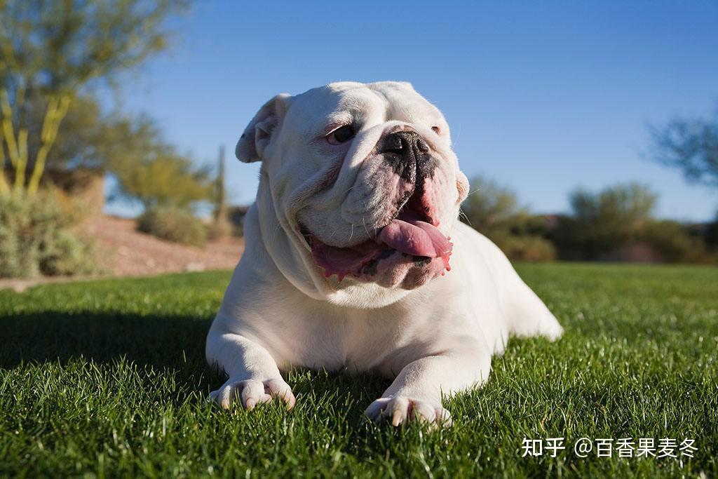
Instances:
[[[289,96],[281,93],[259,108],[237,142],[234,154],[241,162],[251,163],[262,159],[272,134],[289,108]]]

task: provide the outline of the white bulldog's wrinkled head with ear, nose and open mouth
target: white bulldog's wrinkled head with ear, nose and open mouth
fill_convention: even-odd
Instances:
[[[237,156],[264,160],[279,223],[332,287],[414,289],[450,269],[468,182],[442,113],[408,83],[277,96]]]

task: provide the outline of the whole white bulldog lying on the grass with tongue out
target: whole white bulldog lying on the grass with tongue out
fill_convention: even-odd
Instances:
[[[294,395],[292,366],[376,371],[366,409],[447,425],[442,394],[480,386],[509,335],[561,326],[503,253],[460,223],[469,182],[442,113],[409,83],[332,83],[264,104],[236,148],[262,161],[246,249],[207,338],[246,409]]]

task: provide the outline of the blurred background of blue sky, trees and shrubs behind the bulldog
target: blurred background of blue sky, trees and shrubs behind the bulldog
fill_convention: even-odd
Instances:
[[[718,4],[0,0],[0,277],[231,268],[276,93],[405,80],[513,260],[718,262]]]

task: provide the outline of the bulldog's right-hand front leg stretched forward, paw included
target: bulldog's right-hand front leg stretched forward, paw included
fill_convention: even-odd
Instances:
[[[451,415],[442,406],[442,394],[472,389],[487,380],[491,355],[482,349],[473,345],[412,361],[365,414],[376,422],[390,420],[394,426],[413,420],[450,426]]]

